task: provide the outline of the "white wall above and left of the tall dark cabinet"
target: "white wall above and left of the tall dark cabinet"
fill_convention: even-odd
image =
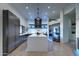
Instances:
[[[0,4],[0,55],[2,55],[2,10],[9,10],[12,13],[14,13],[19,19],[20,19],[20,24],[24,25],[26,27],[28,27],[28,22],[26,21],[26,19],[24,19],[24,17],[19,14],[14,8],[12,8],[11,6],[9,6],[8,4]]]

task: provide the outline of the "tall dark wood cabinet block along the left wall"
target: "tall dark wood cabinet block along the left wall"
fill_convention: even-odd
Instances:
[[[20,20],[9,10],[3,10],[3,55],[7,55],[16,48],[16,41],[20,36]]]

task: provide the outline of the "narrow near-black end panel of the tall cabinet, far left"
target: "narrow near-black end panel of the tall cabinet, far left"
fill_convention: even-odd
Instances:
[[[3,55],[8,54],[8,11],[3,10]]]

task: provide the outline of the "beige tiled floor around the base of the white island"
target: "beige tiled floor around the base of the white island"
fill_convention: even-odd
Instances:
[[[73,56],[73,48],[70,45],[50,42],[48,52],[27,52],[27,43],[24,42],[8,56]]]

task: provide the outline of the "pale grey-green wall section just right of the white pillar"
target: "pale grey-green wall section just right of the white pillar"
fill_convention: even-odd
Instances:
[[[64,43],[71,39],[71,19],[67,15],[64,16],[63,37]]]

